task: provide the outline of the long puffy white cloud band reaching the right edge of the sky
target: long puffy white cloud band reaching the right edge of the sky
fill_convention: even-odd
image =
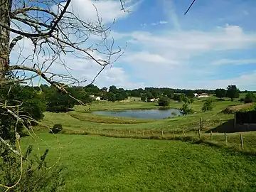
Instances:
[[[132,33],[134,44],[154,50],[172,50],[180,55],[195,55],[210,50],[233,50],[255,45],[256,34],[246,34],[239,26],[219,27],[215,31],[170,31],[162,35],[137,31]],[[182,52],[181,51],[185,51]]]

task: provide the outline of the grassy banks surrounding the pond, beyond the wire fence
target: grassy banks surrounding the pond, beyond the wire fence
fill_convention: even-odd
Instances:
[[[201,112],[203,100],[196,100],[191,107],[196,110],[196,114],[186,117],[176,117],[164,120],[145,120],[129,119],[125,117],[107,117],[88,113],[89,107],[76,106],[75,111],[68,113],[50,113],[46,112],[43,119],[44,124],[52,125],[62,123],[65,129],[85,130],[85,129],[196,129],[199,126],[199,119],[231,119],[233,115],[220,113],[225,107],[239,105],[240,102],[216,101],[215,108],[211,112]],[[93,110],[124,110],[138,108],[156,108],[156,103],[147,102],[102,102],[90,105],[90,111]],[[169,107],[180,108],[183,104],[171,102]],[[193,124],[191,126],[191,124]]]

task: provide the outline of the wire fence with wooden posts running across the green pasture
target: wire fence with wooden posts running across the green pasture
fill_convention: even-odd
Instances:
[[[200,119],[195,129],[64,129],[65,134],[92,134],[105,137],[131,138],[131,139],[164,139],[205,142],[218,146],[231,147],[240,151],[256,153],[256,134],[213,132],[210,127],[227,122],[227,120],[208,121]],[[207,132],[205,132],[207,131]]]

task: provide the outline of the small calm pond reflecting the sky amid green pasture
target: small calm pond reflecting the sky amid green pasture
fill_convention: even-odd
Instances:
[[[177,109],[96,111],[92,113],[114,116],[114,117],[129,117],[129,118],[139,118],[139,119],[164,119],[166,117],[176,117],[178,115],[181,115],[181,111]]]

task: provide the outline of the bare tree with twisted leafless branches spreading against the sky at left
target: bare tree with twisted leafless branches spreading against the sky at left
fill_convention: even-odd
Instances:
[[[120,9],[126,11],[124,0],[119,2]],[[0,86],[33,83],[38,78],[70,95],[65,90],[67,85],[86,80],[78,80],[70,74],[71,69],[66,65],[65,57],[73,55],[93,61],[101,66],[97,73],[99,75],[107,65],[122,55],[122,49],[114,46],[114,40],[109,35],[110,27],[102,23],[99,14],[97,21],[90,21],[89,18],[87,21],[82,20],[74,14],[71,0],[0,0]],[[32,53],[24,53],[24,42],[31,43]],[[14,50],[15,63],[11,60]],[[54,65],[62,66],[66,73],[51,70]],[[12,78],[9,78],[10,75]],[[22,105],[23,101],[20,102]],[[27,122],[31,121],[31,117],[19,116],[18,107],[0,102],[0,110],[4,112],[0,115],[9,115],[30,129]],[[16,129],[14,132],[18,142],[18,132]],[[21,151],[17,151],[2,137],[0,142],[21,156]]]

